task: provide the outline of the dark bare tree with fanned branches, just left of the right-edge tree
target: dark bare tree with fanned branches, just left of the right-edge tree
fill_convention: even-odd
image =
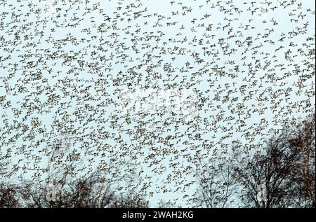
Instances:
[[[287,151],[282,137],[272,139],[265,153],[255,153],[251,158],[237,157],[235,179],[242,186],[240,195],[246,207],[289,207],[287,195],[291,192],[289,172],[296,166],[298,154]],[[266,200],[258,198],[260,187],[266,192]]]

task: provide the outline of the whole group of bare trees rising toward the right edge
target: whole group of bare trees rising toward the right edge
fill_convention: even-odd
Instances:
[[[315,207],[315,113],[286,125],[261,150],[197,161],[195,207]]]

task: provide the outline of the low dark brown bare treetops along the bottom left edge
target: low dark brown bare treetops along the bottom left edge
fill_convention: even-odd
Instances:
[[[115,183],[105,179],[103,172],[94,172],[79,179],[63,177],[56,182],[55,200],[47,199],[44,181],[24,181],[20,185],[0,186],[0,207],[31,208],[119,208],[148,207],[145,194],[129,189],[118,193]],[[130,181],[131,182],[131,181]],[[59,185],[58,185],[59,183]]]

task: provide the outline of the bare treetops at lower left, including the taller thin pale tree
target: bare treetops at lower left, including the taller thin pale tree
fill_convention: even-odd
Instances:
[[[145,190],[139,188],[136,176],[129,172],[129,162],[117,165],[109,161],[105,167],[92,171],[80,165],[83,159],[74,149],[62,148],[60,143],[51,146],[48,154],[42,177],[0,181],[0,207],[148,207]],[[65,162],[61,161],[63,157]],[[48,184],[52,190],[48,190]]]

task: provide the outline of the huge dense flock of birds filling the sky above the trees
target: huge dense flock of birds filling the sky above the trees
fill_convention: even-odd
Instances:
[[[225,161],[234,141],[251,153],[314,109],[307,2],[0,0],[0,161],[35,179],[67,137],[55,165],[133,172],[152,202],[185,206],[197,160]],[[192,118],[166,111],[169,94],[124,109],[136,85],[147,102],[191,90]]]

